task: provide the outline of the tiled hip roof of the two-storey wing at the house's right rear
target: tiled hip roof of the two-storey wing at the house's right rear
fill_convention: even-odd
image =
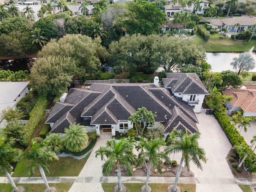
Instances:
[[[166,73],[166,77],[164,87],[171,88],[172,93],[209,95],[196,73]]]

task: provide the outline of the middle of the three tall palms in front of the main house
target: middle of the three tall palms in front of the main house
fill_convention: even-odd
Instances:
[[[146,185],[144,191],[148,190],[148,180],[151,167],[153,167],[153,169],[157,168],[161,173],[162,159],[168,159],[166,154],[160,151],[161,146],[165,146],[165,141],[162,138],[148,140],[142,137],[140,137],[140,142],[136,146],[137,151],[140,151],[138,154],[137,166],[141,166],[143,163],[146,164],[146,160],[148,160]]]

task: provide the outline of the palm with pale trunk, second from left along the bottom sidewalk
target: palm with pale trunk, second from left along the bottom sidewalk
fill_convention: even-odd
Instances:
[[[50,192],[45,173],[49,174],[48,162],[52,160],[58,160],[57,155],[46,148],[42,143],[37,143],[35,140],[31,141],[30,150],[24,154],[24,158],[31,160],[31,164],[28,168],[28,175],[34,174],[35,168],[38,166],[42,179],[46,186],[47,192]]]

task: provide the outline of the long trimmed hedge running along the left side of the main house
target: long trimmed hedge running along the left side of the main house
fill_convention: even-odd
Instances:
[[[20,144],[22,146],[28,146],[28,143],[31,140],[32,135],[34,134],[37,126],[41,122],[44,116],[44,110],[46,109],[48,100],[44,96],[40,96],[36,102],[34,108],[29,113],[30,118],[28,123],[24,126],[24,136],[20,139]]]

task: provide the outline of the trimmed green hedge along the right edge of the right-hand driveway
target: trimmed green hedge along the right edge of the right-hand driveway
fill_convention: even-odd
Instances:
[[[240,144],[248,145],[244,137],[240,135],[237,129],[234,128],[234,125],[231,124],[230,119],[228,118],[227,114],[225,112],[218,112],[215,111],[214,115],[218,118],[224,132],[226,133],[226,136],[228,137],[230,143],[232,146],[240,146]],[[256,155],[253,153],[253,156],[247,157],[245,160],[245,167],[250,167],[254,162],[256,161]],[[251,173],[256,172],[256,164],[252,166],[249,171]]]

